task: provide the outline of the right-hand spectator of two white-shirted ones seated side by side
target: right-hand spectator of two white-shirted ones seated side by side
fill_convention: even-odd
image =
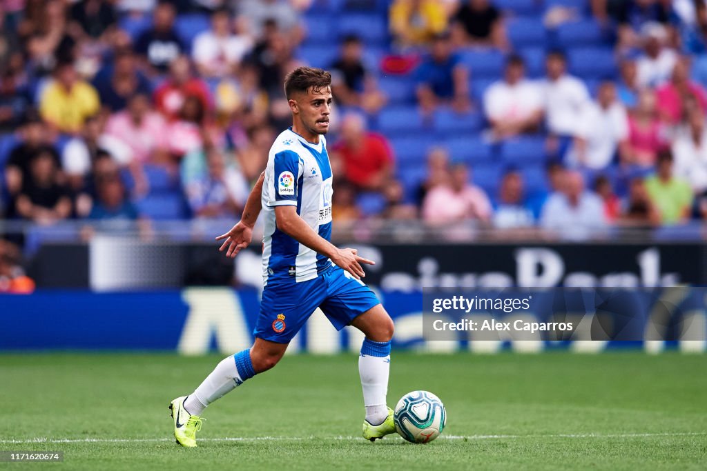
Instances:
[[[543,88],[548,130],[554,136],[573,136],[583,108],[590,100],[587,87],[580,79],[568,75],[562,52],[550,52],[545,66],[547,78]]]

